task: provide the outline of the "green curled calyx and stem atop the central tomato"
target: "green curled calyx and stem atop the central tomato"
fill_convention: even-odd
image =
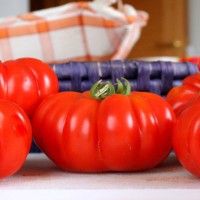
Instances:
[[[116,80],[116,88],[110,81],[102,82],[99,80],[90,89],[90,96],[101,101],[112,94],[129,95],[131,92],[130,83],[125,78],[122,80],[124,83],[119,79]]]

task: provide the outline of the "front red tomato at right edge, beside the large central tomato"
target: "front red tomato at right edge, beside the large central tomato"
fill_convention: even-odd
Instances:
[[[173,132],[173,148],[180,163],[200,177],[200,98],[178,117]]]

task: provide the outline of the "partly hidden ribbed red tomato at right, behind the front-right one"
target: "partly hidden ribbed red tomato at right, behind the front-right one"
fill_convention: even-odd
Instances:
[[[193,104],[200,92],[200,73],[186,77],[181,86],[172,88],[166,96],[166,100],[173,107],[176,115]]]

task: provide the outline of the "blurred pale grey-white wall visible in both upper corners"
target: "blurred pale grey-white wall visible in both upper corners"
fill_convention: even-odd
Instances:
[[[188,56],[200,56],[200,0],[188,0],[188,3],[189,46],[187,54]],[[28,10],[29,0],[0,0],[0,17],[22,14]]]

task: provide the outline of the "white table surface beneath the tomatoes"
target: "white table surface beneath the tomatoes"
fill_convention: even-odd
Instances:
[[[134,173],[69,173],[44,154],[29,154],[22,169],[0,180],[0,199],[200,200],[200,179],[170,154],[160,166]]]

